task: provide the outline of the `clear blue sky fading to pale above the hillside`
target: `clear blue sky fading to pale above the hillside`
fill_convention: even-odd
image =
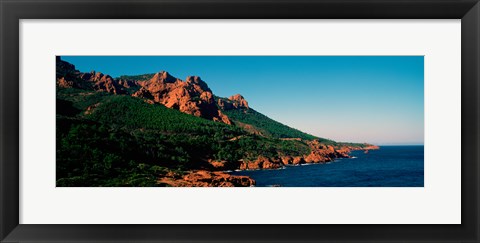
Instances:
[[[214,94],[344,142],[424,143],[423,56],[64,56],[82,72],[200,76]]]

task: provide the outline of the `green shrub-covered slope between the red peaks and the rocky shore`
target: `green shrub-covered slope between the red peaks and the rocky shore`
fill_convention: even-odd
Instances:
[[[140,98],[57,89],[57,186],[162,186],[170,171],[211,169],[208,159],[301,155],[302,141],[249,134]]]

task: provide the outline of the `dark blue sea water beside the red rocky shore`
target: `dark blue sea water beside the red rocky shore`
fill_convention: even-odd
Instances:
[[[368,153],[353,151],[354,158],[327,164],[231,174],[250,176],[260,187],[423,187],[423,154],[423,146],[381,146]]]

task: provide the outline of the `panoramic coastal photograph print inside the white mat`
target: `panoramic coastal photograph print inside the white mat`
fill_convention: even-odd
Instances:
[[[57,187],[423,187],[423,56],[56,56]]]

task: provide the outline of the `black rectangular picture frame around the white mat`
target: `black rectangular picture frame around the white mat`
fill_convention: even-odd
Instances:
[[[478,0],[0,0],[2,242],[480,242]],[[460,225],[19,224],[20,19],[461,19]],[[438,212],[442,213],[442,212]]]

